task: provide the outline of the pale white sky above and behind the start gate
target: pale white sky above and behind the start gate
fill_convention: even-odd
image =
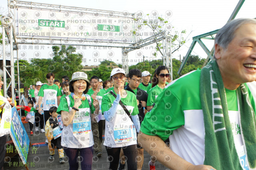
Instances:
[[[2,11],[7,12],[7,0],[0,0]],[[238,0],[94,0],[94,1],[84,1],[84,0],[33,0],[32,2],[39,2],[45,4],[54,4],[62,6],[79,6],[82,8],[92,8],[99,10],[110,10],[129,13],[136,13],[142,11],[144,15],[151,14],[152,11],[157,11],[159,16],[165,17],[166,12],[171,11],[172,16],[168,18],[169,23],[174,26],[175,30],[181,31],[186,30],[188,35],[188,41],[185,43],[178,51],[173,53],[173,57],[179,59],[179,56],[183,58],[186,55],[191,43],[192,37],[204,34],[210,31],[220,29],[228,21],[230,15],[232,14],[234,8],[236,7]],[[245,0],[242,8],[238,12],[236,18],[256,18],[255,12],[256,1],[255,0]],[[172,30],[174,30],[172,29]],[[208,49],[212,49],[213,40],[203,40]],[[40,57],[47,58],[48,54],[51,51],[50,45],[45,45],[45,49],[19,49],[19,53],[26,52],[27,59],[28,56],[34,55],[35,52],[40,52]],[[152,51],[154,51],[155,45],[149,45],[143,49],[137,49],[128,53],[128,64],[134,65],[142,61],[142,57],[136,57],[136,53],[142,52],[143,55],[152,59],[160,59],[160,53],[157,57],[150,57]],[[2,50],[2,49],[0,49]],[[8,51],[8,50],[7,50]],[[114,52],[114,57],[111,58],[112,61],[116,63],[121,62],[121,53],[122,50],[118,49],[99,49],[95,47],[86,48],[83,51],[86,60],[83,60],[82,65],[98,65],[100,61],[107,59],[106,55],[109,51]],[[98,57],[97,59],[93,58],[94,51],[100,52],[103,57]],[[192,55],[199,55],[201,58],[206,58],[206,53],[202,50],[200,45],[196,44],[193,49]]]

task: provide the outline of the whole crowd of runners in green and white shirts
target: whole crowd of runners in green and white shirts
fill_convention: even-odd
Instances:
[[[153,75],[114,68],[104,81],[78,71],[60,83],[47,73],[48,83],[38,81],[28,91],[30,135],[45,133],[48,159],[54,159],[56,146],[60,163],[66,154],[70,170],[79,162],[91,170],[102,147],[110,170],[125,164],[142,169],[144,150],[152,155],[150,170],[156,161],[182,170],[255,169],[256,21],[227,23],[214,47],[206,67],[172,82],[163,65]],[[0,106],[7,102],[0,98]]]

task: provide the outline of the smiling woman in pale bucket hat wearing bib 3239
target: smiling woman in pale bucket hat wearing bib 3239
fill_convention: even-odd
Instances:
[[[75,72],[69,83],[70,95],[62,99],[57,113],[61,114],[64,128],[61,145],[68,156],[70,170],[78,169],[78,152],[82,170],[92,169],[93,136],[91,119],[98,115],[99,103],[88,92],[90,81],[84,72]],[[96,109],[95,109],[96,108]]]

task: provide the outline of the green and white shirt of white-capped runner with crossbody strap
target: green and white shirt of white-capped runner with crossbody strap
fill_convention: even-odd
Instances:
[[[131,115],[138,115],[138,105],[137,105],[137,99],[134,93],[127,91],[127,96],[125,98],[121,98],[122,103],[124,103],[126,109],[130,112]],[[113,93],[116,94],[113,90]],[[106,93],[102,97],[102,113],[105,111],[108,111],[116,98],[110,94]],[[117,148],[122,146],[128,146],[132,144],[137,144],[137,137],[136,137],[136,129],[135,134],[132,132],[133,136],[132,140],[130,141],[124,141],[124,142],[115,142],[115,131],[120,129],[128,129],[130,126],[134,126],[131,119],[128,117],[122,106],[118,103],[116,114],[114,115],[114,118],[112,121],[105,121],[105,139],[104,139],[104,145],[109,146],[111,148]]]

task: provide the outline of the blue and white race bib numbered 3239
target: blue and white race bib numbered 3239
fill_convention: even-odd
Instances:
[[[73,119],[73,134],[89,133],[91,131],[91,119]]]

